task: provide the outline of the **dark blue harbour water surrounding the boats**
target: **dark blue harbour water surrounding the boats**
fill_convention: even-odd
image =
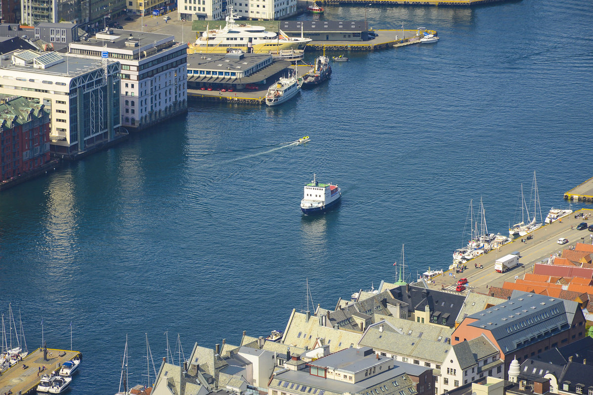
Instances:
[[[326,8],[361,20],[364,7]],[[515,220],[537,171],[544,215],[591,176],[593,12],[586,1],[367,9],[375,28],[438,30],[437,44],[348,54],[329,84],[279,108],[205,104],[187,117],[0,195],[0,306],[22,310],[84,365],[73,395],[113,394],[181,333],[213,347],[283,330],[293,307],[334,306],[409,272],[446,268],[470,199],[490,232]],[[282,144],[308,135],[306,146]],[[317,173],[339,210],[302,217]],[[172,347],[174,341],[171,341]],[[97,386],[100,383],[100,386]]]

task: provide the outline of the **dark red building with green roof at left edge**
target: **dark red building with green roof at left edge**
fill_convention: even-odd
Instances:
[[[0,103],[0,181],[6,181],[50,161],[50,118],[39,100],[2,96]]]

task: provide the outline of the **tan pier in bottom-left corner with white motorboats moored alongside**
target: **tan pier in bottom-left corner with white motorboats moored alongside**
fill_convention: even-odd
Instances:
[[[37,384],[44,374],[58,371],[62,364],[75,357],[82,357],[78,351],[47,349],[47,358],[43,358],[43,348],[38,348],[27,355],[23,361],[12,366],[0,375],[0,394],[12,392],[13,395],[36,392]]]

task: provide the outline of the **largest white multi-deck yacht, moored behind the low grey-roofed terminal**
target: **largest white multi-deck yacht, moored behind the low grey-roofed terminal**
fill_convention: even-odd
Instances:
[[[270,53],[286,49],[305,49],[311,38],[289,37],[282,30],[279,34],[267,31],[263,26],[236,24],[230,8],[225,27],[210,29],[198,37],[195,43],[189,44],[187,53],[208,52],[227,53],[228,48],[241,49],[246,53]]]

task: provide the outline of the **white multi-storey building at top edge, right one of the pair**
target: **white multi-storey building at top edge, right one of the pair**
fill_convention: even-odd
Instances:
[[[238,17],[248,20],[280,20],[298,14],[297,0],[233,0],[231,4]]]

